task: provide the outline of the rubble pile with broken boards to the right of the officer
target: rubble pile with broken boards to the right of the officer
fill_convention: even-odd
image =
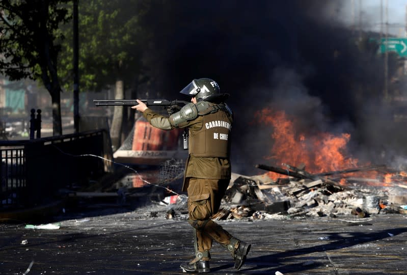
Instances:
[[[256,167],[286,175],[277,181],[268,173],[247,177],[232,174],[231,184],[221,209],[213,219],[251,217],[265,218],[270,214],[295,216],[357,215],[367,217],[378,213],[407,213],[407,188],[399,186],[371,186],[348,183],[341,185],[336,179],[346,173],[383,170],[383,166],[370,166],[324,174],[309,174],[305,170],[283,164],[286,169]],[[342,175],[338,177],[338,175]],[[328,178],[332,176],[332,178]],[[369,179],[366,180],[368,182]],[[350,181],[348,181],[350,182]],[[403,194],[404,195],[400,195]]]

